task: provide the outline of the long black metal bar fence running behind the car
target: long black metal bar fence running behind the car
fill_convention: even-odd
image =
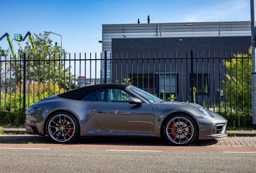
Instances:
[[[0,111],[27,108],[51,95],[91,84],[127,83],[164,100],[213,111],[251,108],[249,52],[104,52],[1,56]],[[110,58],[107,58],[110,57]]]

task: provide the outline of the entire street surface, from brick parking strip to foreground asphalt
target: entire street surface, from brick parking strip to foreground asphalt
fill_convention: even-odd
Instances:
[[[223,137],[175,147],[158,139],[0,135],[0,172],[256,172],[256,137]]]

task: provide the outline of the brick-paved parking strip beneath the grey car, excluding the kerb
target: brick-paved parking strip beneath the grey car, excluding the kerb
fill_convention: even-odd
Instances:
[[[53,143],[47,136],[38,135],[0,135],[0,143]],[[134,145],[171,146],[159,139],[80,139],[74,144],[85,145]],[[256,147],[256,137],[222,137],[204,141],[194,141],[190,146],[202,147]]]

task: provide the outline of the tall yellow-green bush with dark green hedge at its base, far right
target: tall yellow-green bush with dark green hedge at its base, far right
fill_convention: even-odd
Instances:
[[[216,112],[227,119],[228,127],[232,128],[252,127],[252,59],[248,58],[252,53],[251,48],[248,53],[249,55],[233,54],[237,58],[232,58],[231,61],[223,60],[223,65],[229,70],[224,74],[226,80],[222,81],[225,85],[223,95],[227,103],[222,101],[221,105],[216,107]]]

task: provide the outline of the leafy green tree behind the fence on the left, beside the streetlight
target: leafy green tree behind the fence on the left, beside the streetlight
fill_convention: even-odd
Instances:
[[[27,82],[40,82],[45,85],[55,82],[60,85],[60,88],[65,86],[66,91],[71,90],[74,88],[74,82],[70,84],[70,82],[74,81],[74,75],[70,74],[71,67],[64,66],[64,60],[68,52],[65,49],[62,49],[62,51],[54,49],[53,41],[49,38],[49,34],[34,33],[33,40],[36,52],[33,51],[29,39],[27,39],[24,48],[19,44],[21,60],[24,59],[24,52],[27,56],[26,60],[30,60],[27,61]],[[21,69],[23,69],[23,64],[21,64]],[[19,75],[23,78],[21,73],[17,75],[17,79],[20,78]]]

